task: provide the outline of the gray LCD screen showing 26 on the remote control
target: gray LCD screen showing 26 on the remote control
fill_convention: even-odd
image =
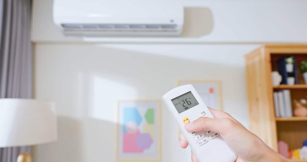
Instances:
[[[192,107],[198,105],[198,102],[191,91],[172,99],[172,102],[178,113],[182,113],[185,110],[191,109]]]

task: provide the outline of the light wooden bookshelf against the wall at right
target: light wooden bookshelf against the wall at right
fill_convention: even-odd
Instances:
[[[277,60],[289,55],[296,59],[298,84],[273,86],[271,72],[277,71]],[[275,117],[273,101],[274,91],[282,89],[290,90],[292,101],[307,97],[307,85],[299,71],[303,60],[307,61],[307,44],[264,45],[245,56],[250,130],[275,151],[278,140],[285,141],[291,150],[301,148],[307,139],[307,117]]]

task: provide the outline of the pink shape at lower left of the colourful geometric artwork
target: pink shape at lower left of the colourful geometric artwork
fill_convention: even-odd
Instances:
[[[124,134],[122,152],[124,153],[142,153],[143,150],[139,149],[136,143],[136,139],[140,131],[138,130],[134,134]]]

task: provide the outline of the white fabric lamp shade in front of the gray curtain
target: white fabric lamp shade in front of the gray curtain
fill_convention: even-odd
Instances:
[[[57,140],[55,104],[32,99],[0,99],[0,147]]]

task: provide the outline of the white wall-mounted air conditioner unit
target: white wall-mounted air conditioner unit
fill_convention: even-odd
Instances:
[[[182,0],[54,0],[53,21],[65,35],[179,36]]]

